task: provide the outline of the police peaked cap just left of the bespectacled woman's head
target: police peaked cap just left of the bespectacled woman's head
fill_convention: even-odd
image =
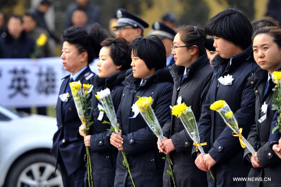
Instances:
[[[149,34],[154,34],[160,39],[169,38],[170,40],[174,40],[175,38],[175,30],[163,22],[154,22],[152,28],[153,30]]]

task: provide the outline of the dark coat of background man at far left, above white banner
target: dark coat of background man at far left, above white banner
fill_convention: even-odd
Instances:
[[[35,43],[24,31],[14,39],[6,30],[0,37],[0,58],[30,58],[34,46]]]

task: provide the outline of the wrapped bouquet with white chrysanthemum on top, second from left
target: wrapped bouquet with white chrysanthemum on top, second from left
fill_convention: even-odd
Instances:
[[[96,98],[101,102],[101,105],[103,107],[102,110],[104,110],[104,112],[106,113],[109,121],[103,121],[102,123],[107,123],[107,124],[111,124],[111,126],[113,127],[112,129],[108,129],[111,131],[114,131],[116,134],[118,134],[119,132],[121,132],[121,129],[119,129],[119,124],[117,123],[117,118],[116,118],[116,114],[115,114],[115,110],[114,110],[114,105],[112,102],[112,98],[110,95],[110,89],[106,88],[104,90],[101,90],[99,92],[96,92]],[[129,164],[126,158],[126,155],[124,153],[124,150],[121,150],[121,153],[123,155],[123,165],[128,169],[128,173],[130,174],[131,180],[132,180],[132,185],[135,187],[135,183],[134,180],[132,178],[131,175],[131,171],[129,168]]]

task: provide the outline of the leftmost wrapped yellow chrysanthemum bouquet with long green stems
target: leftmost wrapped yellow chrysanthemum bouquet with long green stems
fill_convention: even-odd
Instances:
[[[87,134],[87,130],[94,122],[91,121],[91,116],[87,114],[88,109],[91,109],[89,107],[91,103],[91,99],[88,100],[90,97],[90,94],[93,85],[91,84],[83,84],[81,85],[81,82],[71,82],[69,83],[71,93],[74,99],[75,107],[79,116],[79,119],[81,120],[82,124],[84,125],[83,132],[84,134]],[[86,167],[88,168],[88,184],[89,186],[93,187],[93,175],[92,175],[92,167],[91,167],[91,157],[90,157],[90,147],[86,146],[86,154],[84,157],[86,161]]]

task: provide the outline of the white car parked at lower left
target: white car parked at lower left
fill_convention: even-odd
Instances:
[[[49,153],[57,131],[54,117],[21,115],[0,105],[0,186],[62,187]]]

